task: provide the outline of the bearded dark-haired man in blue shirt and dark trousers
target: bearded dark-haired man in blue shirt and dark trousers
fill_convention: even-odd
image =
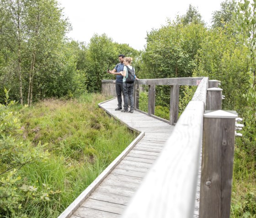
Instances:
[[[115,68],[112,71],[109,71],[111,74],[114,74],[117,76],[116,79],[116,92],[117,92],[117,101],[118,105],[115,111],[121,111],[122,110],[122,93],[123,93],[123,76],[121,75],[120,71],[123,71],[123,58],[124,55],[118,55],[119,64],[115,66]]]

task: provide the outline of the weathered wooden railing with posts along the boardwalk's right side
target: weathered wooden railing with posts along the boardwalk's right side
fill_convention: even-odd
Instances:
[[[237,115],[221,110],[218,84],[208,77],[136,81],[136,110],[138,86],[149,85],[149,116],[155,112],[155,85],[171,86],[169,122],[176,126],[123,218],[192,218],[202,144],[199,217],[229,218]],[[198,87],[178,119],[181,85]]]

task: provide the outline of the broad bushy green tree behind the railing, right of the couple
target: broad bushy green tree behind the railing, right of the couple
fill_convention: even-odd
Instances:
[[[181,19],[182,21],[182,19]],[[195,56],[201,49],[206,27],[201,22],[183,24],[178,17],[147,34],[140,75],[145,78],[190,77],[197,66]],[[156,86],[156,104],[169,106],[170,87]]]

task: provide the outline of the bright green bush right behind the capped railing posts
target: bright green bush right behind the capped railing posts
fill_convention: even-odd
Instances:
[[[242,113],[245,100],[241,95],[248,86],[247,55],[243,46],[237,45],[232,28],[221,27],[208,30],[202,49],[198,51],[194,76],[208,76],[221,81],[223,108]]]

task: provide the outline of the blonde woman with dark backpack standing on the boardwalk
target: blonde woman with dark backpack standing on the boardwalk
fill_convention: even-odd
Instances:
[[[123,67],[123,71],[121,71],[121,75],[123,76],[123,101],[124,101],[124,106],[123,106],[123,110],[121,110],[121,112],[125,112],[125,113],[133,113],[133,106],[134,106],[134,100],[133,100],[133,84],[134,83],[128,83],[126,82],[126,79],[128,78],[128,68],[130,70],[134,70],[133,66],[130,66],[131,62],[132,62],[132,58],[131,57],[125,57],[123,58],[123,63],[124,63],[124,67]],[[135,70],[134,70],[134,74],[135,74]],[[135,78],[137,79],[137,77],[135,76]],[[130,111],[128,111],[128,102],[130,100]]]

